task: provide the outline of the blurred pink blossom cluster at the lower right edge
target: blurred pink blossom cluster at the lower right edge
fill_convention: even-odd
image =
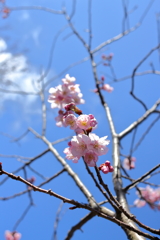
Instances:
[[[136,207],[140,208],[148,203],[152,209],[160,210],[160,188],[153,189],[150,186],[146,186],[146,188],[140,188],[140,192],[136,192],[139,196],[139,199],[134,201]]]

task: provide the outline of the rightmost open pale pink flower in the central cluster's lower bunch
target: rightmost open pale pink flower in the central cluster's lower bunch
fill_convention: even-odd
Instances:
[[[88,149],[94,151],[98,156],[105,155],[108,152],[106,145],[109,144],[109,140],[105,140],[107,136],[99,138],[94,133],[89,133],[90,143]]]

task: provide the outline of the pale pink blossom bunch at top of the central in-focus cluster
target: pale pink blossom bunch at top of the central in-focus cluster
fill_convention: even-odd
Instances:
[[[75,84],[76,79],[66,74],[62,79],[63,84],[55,88],[50,88],[48,102],[51,103],[51,108],[64,108],[68,103],[74,102],[76,105],[84,103],[83,95],[79,88],[79,84]]]

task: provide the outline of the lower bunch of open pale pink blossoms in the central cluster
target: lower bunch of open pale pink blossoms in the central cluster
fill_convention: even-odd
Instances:
[[[106,145],[110,141],[106,138],[107,136],[99,138],[94,133],[78,134],[71,139],[68,144],[69,147],[65,148],[66,158],[77,163],[83,157],[88,166],[94,167],[98,161],[98,156],[105,155],[108,152]]]

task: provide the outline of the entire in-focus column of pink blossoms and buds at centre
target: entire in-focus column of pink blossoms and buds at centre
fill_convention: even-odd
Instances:
[[[92,133],[97,127],[97,120],[92,114],[83,114],[76,106],[84,103],[84,100],[81,99],[79,84],[74,84],[75,78],[67,74],[62,81],[63,85],[50,88],[51,95],[48,101],[52,108],[60,108],[59,115],[55,118],[56,125],[59,127],[69,126],[76,133],[76,136],[68,143],[69,147],[64,149],[64,153],[66,158],[74,163],[83,157],[88,166],[94,167],[98,157],[108,152],[106,146],[110,141],[106,140],[107,136],[99,138]],[[108,169],[108,172],[113,171],[113,167],[110,165],[108,165]]]

